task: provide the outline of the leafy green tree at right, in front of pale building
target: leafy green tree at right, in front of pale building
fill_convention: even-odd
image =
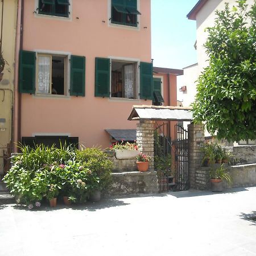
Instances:
[[[216,11],[204,44],[209,65],[197,80],[195,122],[218,139],[256,139],[256,3]]]

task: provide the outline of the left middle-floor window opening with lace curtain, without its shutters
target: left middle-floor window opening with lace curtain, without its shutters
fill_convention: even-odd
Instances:
[[[36,93],[67,95],[66,63],[65,56],[38,55]]]

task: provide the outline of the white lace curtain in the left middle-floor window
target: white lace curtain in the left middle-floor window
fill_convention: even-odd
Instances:
[[[38,56],[38,92],[50,93],[51,57]]]

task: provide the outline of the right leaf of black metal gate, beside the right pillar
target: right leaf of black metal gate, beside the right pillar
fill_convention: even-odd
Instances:
[[[188,178],[188,131],[175,125],[175,191],[189,188]]]

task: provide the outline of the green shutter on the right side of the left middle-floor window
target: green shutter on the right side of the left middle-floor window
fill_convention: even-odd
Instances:
[[[85,57],[71,55],[70,95],[85,96]]]

